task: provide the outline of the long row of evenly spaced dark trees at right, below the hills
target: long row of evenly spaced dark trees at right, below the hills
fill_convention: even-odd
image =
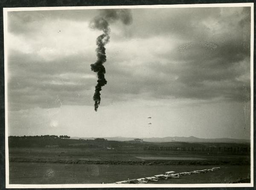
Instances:
[[[168,147],[168,146],[145,146],[143,150],[154,151],[183,151],[183,152],[208,152],[208,153],[233,153],[248,154],[250,147]]]

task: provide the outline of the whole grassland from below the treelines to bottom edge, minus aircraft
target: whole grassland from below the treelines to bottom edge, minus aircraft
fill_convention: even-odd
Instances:
[[[205,174],[157,183],[229,183],[250,178],[248,155],[179,153],[175,151],[102,150],[97,148],[9,148],[10,184],[113,183],[221,167]],[[99,163],[99,164],[98,164]],[[221,163],[221,164],[219,164]],[[245,164],[243,164],[245,163]]]

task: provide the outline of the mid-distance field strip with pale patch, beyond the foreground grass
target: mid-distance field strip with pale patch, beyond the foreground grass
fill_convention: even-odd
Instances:
[[[9,148],[9,161],[62,164],[246,165],[250,164],[250,156],[134,149]]]

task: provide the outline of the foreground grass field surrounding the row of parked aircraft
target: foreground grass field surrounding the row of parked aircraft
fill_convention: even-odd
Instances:
[[[157,184],[196,184],[229,183],[240,178],[250,178],[250,166],[148,166],[148,165],[108,165],[108,164],[39,164],[10,163],[10,184],[93,184],[113,183],[150,177],[166,171],[185,172],[221,167],[204,174],[182,176],[168,179]],[[152,182],[153,183],[153,182]]]

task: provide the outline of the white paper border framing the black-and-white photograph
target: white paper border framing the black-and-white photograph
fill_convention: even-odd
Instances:
[[[214,4],[179,4],[179,5],[139,5],[139,6],[61,6],[61,7],[19,7],[3,8],[4,29],[4,75],[5,75],[5,161],[6,188],[102,188],[102,187],[253,187],[253,46],[254,46],[254,3],[214,3]],[[250,183],[240,184],[9,184],[9,147],[8,147],[8,57],[7,57],[7,13],[15,11],[43,10],[81,10],[81,9],[155,9],[155,8],[190,8],[190,7],[250,7]]]

